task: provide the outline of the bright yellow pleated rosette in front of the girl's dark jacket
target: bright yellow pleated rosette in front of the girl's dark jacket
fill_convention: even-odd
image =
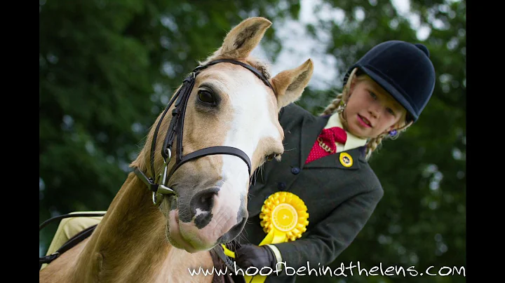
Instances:
[[[260,246],[297,240],[309,225],[309,214],[303,200],[285,191],[274,193],[264,201],[260,219],[264,233],[267,233]],[[263,275],[244,277],[248,283],[261,283],[267,279]]]

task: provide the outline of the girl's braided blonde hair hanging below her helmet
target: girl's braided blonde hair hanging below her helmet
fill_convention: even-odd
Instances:
[[[351,88],[352,81],[354,80],[355,77],[356,77],[356,81],[363,81],[366,79],[372,80],[372,78],[370,78],[366,74],[361,74],[361,75],[356,76],[356,71],[358,71],[358,68],[354,68],[351,71],[351,74],[349,75],[349,79],[347,80],[346,85],[344,85],[344,89],[342,90],[342,93],[337,95],[337,97],[335,97],[335,99],[332,99],[330,104],[328,104],[328,106],[326,106],[326,108],[321,113],[321,115],[331,115],[332,113],[338,112],[340,120],[342,120],[342,125],[344,125],[344,128],[347,127],[347,121],[344,117],[344,108],[345,108],[345,105],[349,99],[349,90]],[[400,122],[398,123],[399,124],[398,128],[396,128],[397,133],[396,133],[396,135],[394,135],[394,137],[391,137],[387,132],[385,132],[385,133],[379,134],[378,137],[372,138],[367,142],[366,153],[365,153],[366,160],[370,159],[370,157],[372,156],[372,152],[374,152],[377,149],[377,147],[380,144],[382,144],[383,139],[397,139],[400,132],[407,130],[407,128],[410,127],[410,125],[412,125],[412,121],[410,121],[409,123],[405,123],[405,118],[406,118],[405,115],[403,115],[403,117],[400,118]]]

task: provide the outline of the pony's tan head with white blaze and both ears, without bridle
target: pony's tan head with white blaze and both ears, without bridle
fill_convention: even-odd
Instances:
[[[278,122],[278,111],[299,99],[314,67],[311,60],[307,60],[272,78],[266,64],[250,57],[270,26],[271,22],[265,18],[243,20],[231,29],[222,46],[201,65],[220,59],[243,62],[259,70],[273,89],[253,71],[238,64],[220,62],[203,69],[195,78],[182,117],[183,156],[212,146],[231,146],[248,156],[251,172],[267,160],[281,157],[284,133]],[[160,115],[154,125],[161,118]],[[167,115],[161,120],[156,137],[156,174],[163,170],[161,151],[169,124],[170,115]],[[152,127],[147,146],[133,163],[143,172],[151,172],[149,145],[154,132]],[[172,149],[173,152],[176,150],[175,147]],[[171,158],[168,168],[174,164],[175,158]],[[233,240],[248,219],[250,178],[247,163],[229,154],[203,156],[178,167],[167,184],[176,194],[166,195],[159,205],[166,216],[168,242],[174,247],[195,252]]]

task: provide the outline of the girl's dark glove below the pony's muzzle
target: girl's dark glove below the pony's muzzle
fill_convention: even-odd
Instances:
[[[277,263],[274,251],[266,245],[257,246],[255,244],[241,244],[235,250],[235,261],[244,270],[251,266],[254,266],[258,270],[261,270],[265,266],[276,270],[275,265]]]

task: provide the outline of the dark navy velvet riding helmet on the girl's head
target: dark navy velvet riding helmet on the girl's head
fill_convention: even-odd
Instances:
[[[344,85],[356,67],[356,75],[367,74],[405,107],[408,121],[419,118],[433,94],[435,69],[428,48],[421,43],[379,43],[349,68]]]

